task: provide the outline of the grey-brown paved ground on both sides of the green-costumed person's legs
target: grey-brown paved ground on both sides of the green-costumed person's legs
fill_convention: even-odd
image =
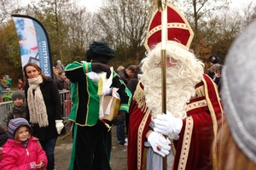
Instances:
[[[68,128],[68,127],[67,127]],[[68,131],[68,130],[67,130]],[[112,129],[112,158],[110,161],[113,170],[127,169],[127,147],[119,147],[115,127]],[[71,134],[67,132],[65,136],[61,136],[55,146],[55,169],[67,170],[69,158],[72,150]]]

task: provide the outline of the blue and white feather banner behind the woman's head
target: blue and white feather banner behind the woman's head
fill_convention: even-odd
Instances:
[[[26,15],[12,15],[19,37],[22,67],[29,62],[38,64],[44,75],[53,77],[49,38],[44,26]]]

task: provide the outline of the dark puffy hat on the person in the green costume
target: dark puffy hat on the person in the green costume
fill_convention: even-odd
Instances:
[[[89,48],[92,53],[114,58],[113,49],[110,48],[106,42],[92,42]]]

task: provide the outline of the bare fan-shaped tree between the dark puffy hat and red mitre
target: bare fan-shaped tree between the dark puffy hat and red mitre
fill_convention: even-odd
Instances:
[[[143,47],[148,23],[156,7],[148,0],[107,0],[97,13],[104,39],[127,59]],[[144,50],[144,48],[143,48]]]

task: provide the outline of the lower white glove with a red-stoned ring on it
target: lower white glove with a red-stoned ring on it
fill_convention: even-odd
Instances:
[[[166,139],[162,134],[152,132],[148,135],[148,143],[151,145],[154,152],[158,153],[160,156],[167,156],[169,150],[171,150],[171,144],[169,139]],[[157,147],[160,146],[160,150]]]

